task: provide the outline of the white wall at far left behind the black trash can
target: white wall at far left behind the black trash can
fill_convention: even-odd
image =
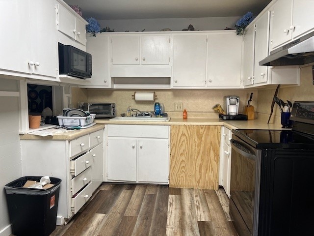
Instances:
[[[21,177],[19,97],[1,91],[18,91],[17,81],[0,78],[0,235],[11,234],[4,185]]]

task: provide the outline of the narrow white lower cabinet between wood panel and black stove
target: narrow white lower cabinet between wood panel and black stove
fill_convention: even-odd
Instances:
[[[219,185],[223,186],[228,197],[230,197],[231,138],[231,130],[221,126]]]

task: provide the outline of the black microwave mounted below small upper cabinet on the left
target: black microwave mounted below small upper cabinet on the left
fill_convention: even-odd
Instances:
[[[59,43],[59,74],[81,79],[92,77],[92,55]]]

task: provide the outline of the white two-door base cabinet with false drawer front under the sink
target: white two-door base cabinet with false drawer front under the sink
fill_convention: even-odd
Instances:
[[[169,126],[108,125],[105,181],[168,184]]]

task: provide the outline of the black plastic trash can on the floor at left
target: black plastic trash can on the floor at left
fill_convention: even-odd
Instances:
[[[55,229],[61,179],[50,177],[54,185],[47,189],[23,187],[27,180],[39,182],[40,178],[21,177],[4,186],[16,236],[49,236]]]

